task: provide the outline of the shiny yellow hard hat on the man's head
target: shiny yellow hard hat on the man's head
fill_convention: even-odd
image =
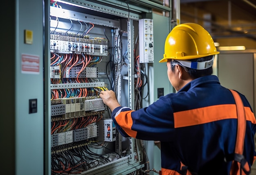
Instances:
[[[195,59],[219,53],[207,30],[199,24],[184,23],[175,26],[166,37],[164,58],[159,63],[168,59]]]

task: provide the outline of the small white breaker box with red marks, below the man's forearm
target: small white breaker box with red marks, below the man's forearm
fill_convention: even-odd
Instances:
[[[112,119],[104,120],[104,141],[113,142],[116,140],[116,127]]]

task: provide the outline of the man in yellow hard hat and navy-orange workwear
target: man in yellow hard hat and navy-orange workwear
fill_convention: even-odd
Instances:
[[[219,52],[211,35],[198,24],[179,24],[167,36],[164,52],[159,62],[167,62],[168,79],[177,93],[132,111],[118,103],[112,90],[101,91],[119,133],[161,141],[162,175],[229,175],[236,169],[249,174],[256,159],[255,116],[238,93],[246,118],[243,126],[238,123],[237,96],[212,75],[213,58]],[[244,138],[236,139],[237,130]]]

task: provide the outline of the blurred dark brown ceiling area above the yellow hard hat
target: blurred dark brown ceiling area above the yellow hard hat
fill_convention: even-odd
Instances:
[[[256,0],[180,0],[180,20],[201,24],[214,40],[256,42]]]

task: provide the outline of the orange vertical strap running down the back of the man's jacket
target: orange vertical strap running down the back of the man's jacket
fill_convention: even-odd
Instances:
[[[247,175],[250,173],[250,167],[248,162],[243,156],[245,130],[246,130],[246,118],[243,102],[239,94],[230,90],[234,96],[236,102],[237,112],[237,132],[236,132],[236,147],[234,153],[234,160],[232,161],[230,175]],[[243,170],[243,171],[242,171]]]

